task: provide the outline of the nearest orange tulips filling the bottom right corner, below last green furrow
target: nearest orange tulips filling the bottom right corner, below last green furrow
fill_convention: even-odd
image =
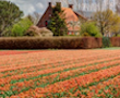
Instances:
[[[89,88],[85,88],[82,90],[82,94],[85,97],[115,97],[120,98],[120,75],[115,78],[110,78],[108,81],[101,82],[97,85],[91,86]]]

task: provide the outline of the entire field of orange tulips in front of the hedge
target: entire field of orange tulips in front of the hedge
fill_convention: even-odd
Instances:
[[[0,98],[120,98],[120,50],[0,51]]]

